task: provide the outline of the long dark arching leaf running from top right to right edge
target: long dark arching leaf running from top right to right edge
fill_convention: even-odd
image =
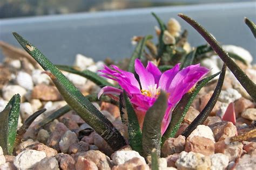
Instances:
[[[195,20],[187,17],[183,14],[179,14],[179,17],[184,19],[188,24],[190,24],[195,30],[197,30],[201,36],[210,44],[213,50],[219,55],[221,60],[227,65],[231,70],[237,80],[241,83],[242,87],[245,88],[247,93],[252,97],[254,102],[256,102],[256,84],[241,70],[241,68],[228,56],[228,53],[224,51],[223,48],[218,44],[218,42],[212,37],[212,35],[199,25]]]

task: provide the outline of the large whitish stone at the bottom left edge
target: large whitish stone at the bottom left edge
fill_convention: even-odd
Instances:
[[[25,150],[16,156],[14,165],[18,170],[33,168],[37,162],[45,157],[46,154],[42,151]]]

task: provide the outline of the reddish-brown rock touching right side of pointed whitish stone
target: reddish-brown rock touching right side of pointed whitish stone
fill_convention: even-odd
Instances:
[[[215,141],[224,140],[237,134],[237,127],[232,122],[217,122],[209,125],[209,127],[214,134]]]

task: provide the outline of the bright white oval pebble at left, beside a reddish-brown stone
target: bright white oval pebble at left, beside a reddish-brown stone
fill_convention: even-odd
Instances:
[[[33,89],[33,81],[30,74],[26,72],[18,72],[16,77],[17,84],[26,90]]]

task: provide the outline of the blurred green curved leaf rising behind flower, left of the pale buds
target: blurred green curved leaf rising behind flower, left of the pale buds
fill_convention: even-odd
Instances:
[[[134,52],[133,52],[133,54],[131,56],[130,63],[129,63],[129,66],[128,66],[128,69],[127,69],[128,72],[131,72],[131,73],[135,72],[135,70],[134,70],[134,62],[135,62],[136,59],[140,59],[141,58],[141,56],[143,54],[143,51],[145,49],[145,46],[146,46],[146,41],[149,40],[149,39],[152,39],[152,38],[153,38],[153,36],[151,36],[151,35],[145,36],[143,39],[141,39],[138,42],[138,44],[137,44],[137,46],[136,46],[136,48],[135,48],[135,50],[134,50]]]

